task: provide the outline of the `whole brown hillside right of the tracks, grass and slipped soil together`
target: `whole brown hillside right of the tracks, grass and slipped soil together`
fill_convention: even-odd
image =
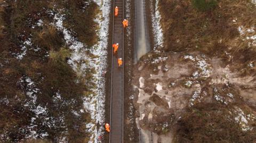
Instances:
[[[254,142],[256,6],[197,2],[159,1],[164,46],[133,70],[140,127],[158,142]]]

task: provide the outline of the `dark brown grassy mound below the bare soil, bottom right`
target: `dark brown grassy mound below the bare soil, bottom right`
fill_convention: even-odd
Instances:
[[[218,103],[189,108],[178,121],[174,142],[254,142],[255,128],[242,131],[230,114],[231,108],[233,105]]]

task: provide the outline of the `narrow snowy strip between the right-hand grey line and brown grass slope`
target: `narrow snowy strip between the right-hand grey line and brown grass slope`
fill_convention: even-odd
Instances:
[[[153,32],[154,32],[154,42],[155,42],[155,47],[154,49],[158,47],[163,47],[163,30],[161,27],[161,14],[158,11],[158,2],[159,0],[156,0],[155,4],[155,9],[154,6],[151,5],[150,10],[151,10],[151,18],[152,18],[152,23],[153,23]]]

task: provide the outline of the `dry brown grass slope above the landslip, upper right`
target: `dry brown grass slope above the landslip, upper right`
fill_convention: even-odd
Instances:
[[[200,12],[191,1],[160,1],[165,51],[225,51],[239,37],[239,24],[252,25],[256,10],[248,1],[219,1],[215,9]],[[233,24],[232,20],[239,21]],[[220,41],[221,40],[221,41]],[[224,46],[219,47],[218,44]],[[234,49],[241,48],[240,46]]]

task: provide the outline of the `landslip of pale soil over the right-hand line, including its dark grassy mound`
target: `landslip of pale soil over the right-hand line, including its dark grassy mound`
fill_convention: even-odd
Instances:
[[[256,82],[232,68],[200,52],[146,55],[132,81],[140,127],[159,136],[172,132],[174,142],[252,142]]]

